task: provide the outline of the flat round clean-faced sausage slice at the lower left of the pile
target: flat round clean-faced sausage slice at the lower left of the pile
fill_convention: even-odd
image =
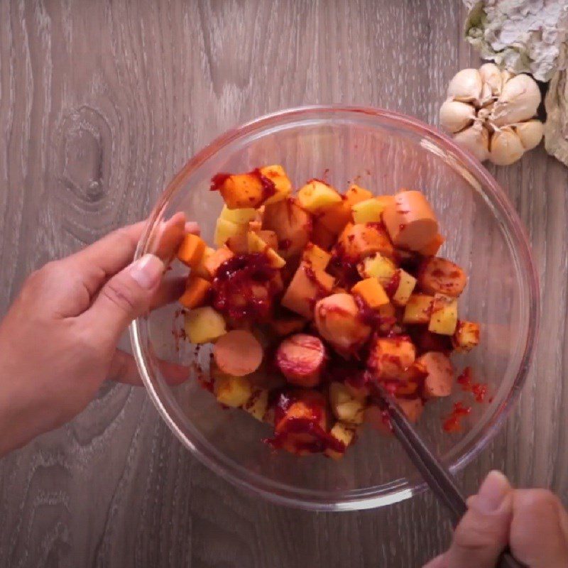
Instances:
[[[224,334],[213,348],[217,366],[227,375],[242,377],[256,371],[262,363],[262,346],[244,329]]]

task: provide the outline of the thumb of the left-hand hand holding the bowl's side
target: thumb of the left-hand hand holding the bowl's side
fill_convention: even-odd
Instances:
[[[118,341],[130,322],[150,308],[163,272],[163,262],[153,254],[146,254],[114,275],[101,288],[84,317],[90,320],[97,332]]]

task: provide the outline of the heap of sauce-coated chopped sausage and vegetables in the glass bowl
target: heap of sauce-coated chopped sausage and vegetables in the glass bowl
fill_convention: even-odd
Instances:
[[[219,403],[271,424],[275,449],[337,459],[364,424],[388,432],[376,381],[413,422],[452,393],[449,356],[479,344],[479,324],[458,317],[466,274],[436,256],[422,192],[342,195],[312,179],[293,195],[280,165],[211,189],[224,200],[214,247],[187,234],[178,259],[185,335],[213,344],[202,381]]]

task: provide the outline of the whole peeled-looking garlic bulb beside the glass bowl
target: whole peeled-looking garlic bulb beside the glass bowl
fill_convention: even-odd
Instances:
[[[542,139],[535,119],[540,90],[529,75],[501,71],[493,63],[463,69],[449,83],[440,125],[480,161],[516,162]]]

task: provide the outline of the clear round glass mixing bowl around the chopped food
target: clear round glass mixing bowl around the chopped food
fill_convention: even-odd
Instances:
[[[408,116],[343,106],[280,111],[230,130],[191,158],[156,204],[136,258],[160,246],[160,226],[175,212],[199,222],[212,241],[222,208],[209,191],[219,172],[280,163],[297,188],[325,178],[339,190],[356,181],[377,195],[401,187],[425,192],[447,240],[440,254],[463,266],[469,283],[460,297],[464,319],[481,322],[481,344],[454,358],[488,383],[488,401],[473,403],[461,432],[442,430],[454,402],[428,403],[417,429],[452,471],[476,457],[513,406],[530,365],[538,320],[538,285],[530,247],[512,204],[481,164],[452,141]],[[174,263],[174,273],[184,273]],[[179,339],[179,310],[168,305],[131,326],[131,341],[148,393],[165,422],[204,464],[237,486],[276,503],[316,510],[385,506],[424,488],[392,436],[363,430],[342,460],[273,452],[271,428],[238,409],[223,410],[198,381],[168,386],[158,358],[207,365],[207,349]],[[196,361],[200,359],[200,361]]]

